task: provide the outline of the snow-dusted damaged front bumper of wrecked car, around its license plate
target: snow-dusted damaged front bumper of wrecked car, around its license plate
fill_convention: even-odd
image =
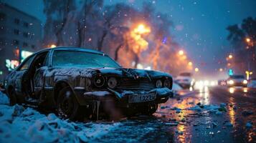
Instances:
[[[105,91],[84,92],[75,91],[77,100],[81,105],[90,104],[89,102],[115,102],[120,107],[128,107],[131,104],[160,104],[166,102],[169,97],[174,97],[174,93],[168,88],[153,89],[149,92],[123,91],[116,92],[113,89]],[[129,102],[129,97],[138,94],[155,94],[156,98],[146,102]]]

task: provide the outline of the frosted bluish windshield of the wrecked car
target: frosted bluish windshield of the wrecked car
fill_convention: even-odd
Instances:
[[[52,56],[52,66],[82,66],[82,67],[113,67],[120,68],[109,56],[93,54],[86,51],[55,50]]]

